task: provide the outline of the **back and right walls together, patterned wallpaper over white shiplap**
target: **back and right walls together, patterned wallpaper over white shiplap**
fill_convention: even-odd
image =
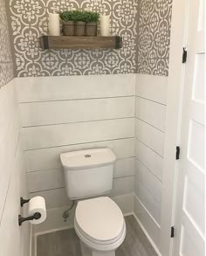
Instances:
[[[7,7],[30,197],[44,196],[48,208],[35,232],[72,225],[61,217],[70,202],[59,154],[110,147],[118,156],[111,197],[129,212],[134,192],[135,214],[158,247],[172,1],[10,0]],[[123,48],[42,51],[48,12],[79,7],[110,13]],[[136,75],[121,73],[138,73],[136,92]]]

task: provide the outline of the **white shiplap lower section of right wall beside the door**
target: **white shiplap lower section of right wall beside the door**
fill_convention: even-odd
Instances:
[[[160,248],[167,77],[137,75],[134,213]]]

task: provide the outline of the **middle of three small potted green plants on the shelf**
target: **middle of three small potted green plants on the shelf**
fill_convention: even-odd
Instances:
[[[73,10],[73,20],[75,22],[75,36],[85,36],[86,12],[83,10]]]

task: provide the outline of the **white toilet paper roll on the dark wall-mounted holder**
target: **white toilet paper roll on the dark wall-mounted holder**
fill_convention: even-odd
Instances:
[[[34,215],[36,212],[41,214],[41,218],[30,220],[31,224],[40,224],[44,222],[46,218],[45,198],[32,197],[29,202],[28,211],[29,216]]]

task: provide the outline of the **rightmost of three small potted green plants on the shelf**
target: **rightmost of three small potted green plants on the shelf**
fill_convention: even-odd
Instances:
[[[86,11],[86,36],[95,37],[97,36],[98,21],[100,20],[100,14],[93,11]]]

